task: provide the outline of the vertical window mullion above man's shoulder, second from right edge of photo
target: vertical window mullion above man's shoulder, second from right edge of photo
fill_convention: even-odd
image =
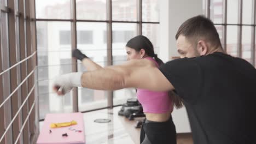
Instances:
[[[237,32],[237,57],[242,57],[242,11],[243,1],[238,1],[238,32]]]

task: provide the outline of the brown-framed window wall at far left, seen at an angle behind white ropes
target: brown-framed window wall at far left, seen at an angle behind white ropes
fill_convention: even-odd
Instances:
[[[0,143],[39,133],[34,1],[0,1]]]

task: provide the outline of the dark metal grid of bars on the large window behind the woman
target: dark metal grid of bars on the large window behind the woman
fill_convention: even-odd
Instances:
[[[106,22],[107,23],[107,65],[113,64],[113,54],[112,54],[112,44],[113,44],[113,31],[112,31],[112,25],[113,23],[136,23],[137,24],[137,35],[142,34],[142,24],[143,23],[152,23],[152,24],[159,24],[159,22],[144,22],[142,21],[142,1],[143,0],[137,0],[137,21],[113,21],[112,20],[112,1],[107,0],[106,7],[107,7],[107,20],[77,20],[77,3],[76,1],[71,1],[71,19],[38,19],[36,18],[36,21],[60,21],[60,22],[71,22],[71,43],[72,43],[72,50],[77,48],[77,22]],[[72,59],[72,71],[76,72],[78,70],[77,66],[78,62]],[[113,91],[107,91],[107,108],[112,108],[113,105]],[[78,89],[74,88],[73,90],[73,111],[78,112]],[[104,107],[106,108],[106,107]],[[102,109],[102,108],[100,108]],[[95,109],[99,110],[99,109]],[[93,111],[93,110],[89,110]],[[82,111],[82,112],[88,112],[88,111]],[[43,119],[40,119],[40,121],[43,121]]]

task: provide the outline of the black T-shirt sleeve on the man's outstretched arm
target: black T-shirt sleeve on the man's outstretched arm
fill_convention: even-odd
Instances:
[[[194,58],[181,58],[167,62],[159,68],[185,101],[195,101],[201,95],[202,69]]]

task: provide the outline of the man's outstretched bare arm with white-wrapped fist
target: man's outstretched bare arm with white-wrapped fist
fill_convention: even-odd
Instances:
[[[59,81],[55,81],[54,89],[58,91],[60,87],[64,87],[64,91],[58,93],[60,95],[77,86],[101,90],[117,90],[128,87],[151,91],[174,89],[154,63],[147,59],[132,60],[123,65],[110,66],[85,73],[72,73],[58,78]]]

